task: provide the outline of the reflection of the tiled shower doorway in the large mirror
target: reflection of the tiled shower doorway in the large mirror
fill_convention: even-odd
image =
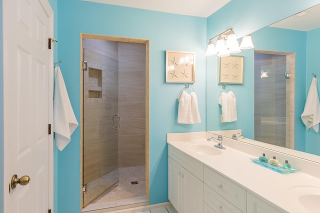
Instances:
[[[292,80],[285,76],[291,70],[290,55],[255,50],[254,53],[254,139],[292,147]],[[290,73],[291,74],[291,73]],[[294,91],[294,90],[293,90]],[[294,93],[293,93],[294,96]],[[293,107],[294,111],[294,107]],[[294,116],[294,115],[293,115]],[[293,120],[293,121],[292,121]]]

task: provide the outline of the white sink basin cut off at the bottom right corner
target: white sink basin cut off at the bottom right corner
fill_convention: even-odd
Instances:
[[[320,187],[294,186],[287,190],[293,202],[300,203],[308,212],[319,212]]]

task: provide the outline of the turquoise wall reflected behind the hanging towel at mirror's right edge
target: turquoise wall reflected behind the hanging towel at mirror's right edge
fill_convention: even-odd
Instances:
[[[307,37],[307,43],[306,43],[305,90],[307,95],[311,80],[313,78],[312,73],[315,73],[317,76],[318,92],[319,92],[320,68],[318,66],[318,61],[319,61],[320,43],[318,42],[318,40],[320,37],[320,28],[308,31],[306,37]],[[315,132],[313,128],[309,128],[308,130],[306,130],[305,135],[306,135],[305,151],[312,154],[320,155],[320,143],[319,143],[320,132]]]

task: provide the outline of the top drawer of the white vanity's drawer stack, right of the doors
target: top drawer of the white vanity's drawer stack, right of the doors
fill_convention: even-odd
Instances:
[[[204,166],[203,173],[203,182],[206,185],[231,202],[241,211],[246,211],[246,191],[242,187],[206,166]]]

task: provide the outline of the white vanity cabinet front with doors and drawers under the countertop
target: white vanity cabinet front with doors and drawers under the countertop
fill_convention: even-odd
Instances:
[[[168,199],[179,213],[283,213],[202,161],[168,144]]]

